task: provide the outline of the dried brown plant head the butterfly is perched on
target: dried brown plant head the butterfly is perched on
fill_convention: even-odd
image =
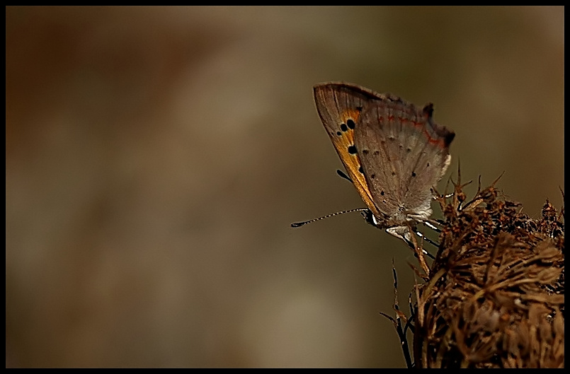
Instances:
[[[460,181],[451,198],[438,198],[438,253],[428,266],[416,245],[424,282],[412,315],[396,302],[389,317],[404,350],[406,330],[414,332],[408,366],[564,367],[564,208],[547,201],[541,219],[529,218],[498,196],[496,182],[482,190],[479,183],[467,203]]]

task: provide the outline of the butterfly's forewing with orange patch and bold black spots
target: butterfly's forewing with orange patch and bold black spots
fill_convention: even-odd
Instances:
[[[380,216],[363,174],[354,144],[355,125],[361,113],[377,100],[372,91],[346,83],[320,83],[314,86],[314,101],[326,132],[353,181],[358,194],[375,216]]]

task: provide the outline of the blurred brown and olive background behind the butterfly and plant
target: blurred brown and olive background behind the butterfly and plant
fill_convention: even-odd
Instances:
[[[563,7],[6,7],[6,366],[404,367],[411,251],[290,228],[364,206],[321,81],[433,102],[441,190],[562,206]]]

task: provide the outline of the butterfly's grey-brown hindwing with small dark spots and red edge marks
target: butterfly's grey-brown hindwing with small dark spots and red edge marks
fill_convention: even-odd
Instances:
[[[451,160],[453,132],[433,122],[433,106],[423,110],[392,95],[377,95],[360,115],[354,141],[366,185],[377,209],[404,224],[431,214],[431,187]]]

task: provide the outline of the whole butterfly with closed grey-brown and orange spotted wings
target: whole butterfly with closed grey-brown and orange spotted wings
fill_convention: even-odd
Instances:
[[[366,221],[409,243],[410,228],[432,214],[431,188],[450,165],[455,133],[433,121],[431,103],[420,109],[355,84],[319,83],[314,100]]]

